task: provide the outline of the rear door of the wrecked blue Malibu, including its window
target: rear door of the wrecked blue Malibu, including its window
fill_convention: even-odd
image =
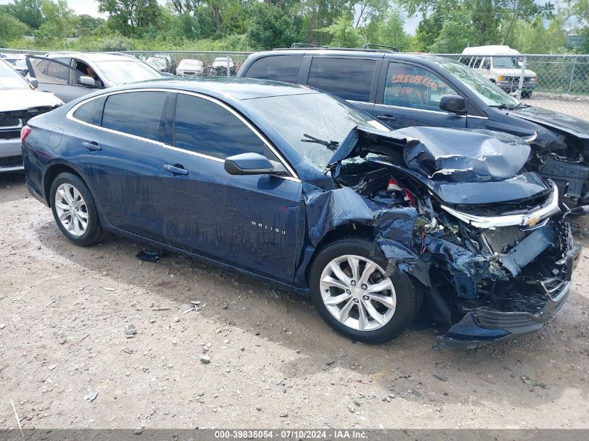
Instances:
[[[72,113],[82,123],[71,149],[101,215],[118,229],[162,241],[156,203],[162,113],[168,94],[130,91],[101,95]]]

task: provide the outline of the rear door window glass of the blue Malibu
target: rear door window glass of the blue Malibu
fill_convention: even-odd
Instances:
[[[102,127],[158,141],[165,92],[130,92],[109,95]]]

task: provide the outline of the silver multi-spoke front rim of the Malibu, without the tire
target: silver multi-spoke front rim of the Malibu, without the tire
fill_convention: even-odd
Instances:
[[[395,286],[369,258],[333,259],[323,269],[319,286],[330,314],[354,330],[377,330],[390,322],[397,309]]]

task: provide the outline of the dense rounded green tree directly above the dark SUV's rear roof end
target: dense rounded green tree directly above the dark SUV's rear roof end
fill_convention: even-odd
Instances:
[[[289,47],[295,38],[293,21],[278,6],[257,3],[250,8],[250,22],[245,36],[255,48]]]

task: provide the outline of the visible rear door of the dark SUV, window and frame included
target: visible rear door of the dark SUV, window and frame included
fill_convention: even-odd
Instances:
[[[308,70],[305,70],[304,83],[343,98],[372,114],[382,56],[307,55],[305,67],[308,65]]]

